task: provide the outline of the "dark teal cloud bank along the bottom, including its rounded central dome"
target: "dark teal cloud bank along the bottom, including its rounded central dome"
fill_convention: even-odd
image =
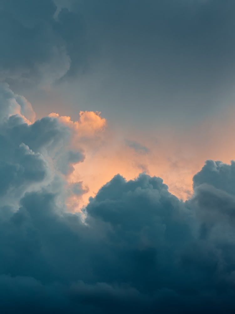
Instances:
[[[116,176],[84,225],[58,212],[53,193],[26,194],[17,212],[1,214],[2,311],[232,313],[234,232],[220,220],[202,235],[194,202],[159,178]]]

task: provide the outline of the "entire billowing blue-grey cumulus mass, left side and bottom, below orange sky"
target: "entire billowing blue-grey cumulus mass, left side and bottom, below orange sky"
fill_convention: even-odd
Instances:
[[[116,175],[71,213],[66,198],[87,188],[66,181],[84,158],[72,149],[69,125],[79,132],[87,119],[98,128],[104,121],[96,113],[77,123],[54,114],[30,124],[7,85],[1,99],[2,312],[234,311],[233,162],[207,161],[186,202],[159,177]]]

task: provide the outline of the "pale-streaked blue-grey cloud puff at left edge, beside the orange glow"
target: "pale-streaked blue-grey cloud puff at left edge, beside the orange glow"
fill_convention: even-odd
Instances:
[[[56,117],[34,122],[31,104],[6,83],[0,84],[0,113],[1,205],[17,206],[25,192],[63,180],[84,159],[82,149],[72,148],[70,128]]]

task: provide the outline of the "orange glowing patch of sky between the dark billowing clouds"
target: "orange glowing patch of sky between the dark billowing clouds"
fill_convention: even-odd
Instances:
[[[107,127],[100,112],[81,111],[78,121],[68,116],[51,114],[70,127],[74,133],[72,146],[83,149],[85,160],[74,165],[67,177],[69,184],[83,182],[81,195],[71,194],[70,208],[81,208],[94,196],[102,185],[116,174],[133,179],[145,171],[151,176],[160,176],[170,192],[187,199],[192,194],[192,177],[203,166],[206,159],[229,162],[235,156],[232,134],[235,127],[233,113],[184,130],[166,130],[156,136],[115,133]],[[224,123],[223,121],[226,121]]]

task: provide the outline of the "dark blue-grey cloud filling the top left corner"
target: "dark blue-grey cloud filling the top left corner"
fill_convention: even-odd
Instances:
[[[83,30],[68,10],[63,9],[57,20],[55,12],[51,0],[1,0],[0,80],[47,85],[69,71]]]

